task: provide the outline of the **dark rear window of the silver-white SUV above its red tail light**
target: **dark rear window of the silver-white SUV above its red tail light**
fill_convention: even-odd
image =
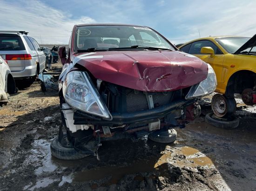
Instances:
[[[20,36],[0,35],[0,51],[23,51],[25,46]]]

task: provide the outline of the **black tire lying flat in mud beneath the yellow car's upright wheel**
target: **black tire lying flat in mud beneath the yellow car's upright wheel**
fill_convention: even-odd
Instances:
[[[220,118],[213,113],[207,114],[205,116],[205,121],[212,126],[222,129],[234,129],[239,125],[239,119],[237,119],[235,116]]]

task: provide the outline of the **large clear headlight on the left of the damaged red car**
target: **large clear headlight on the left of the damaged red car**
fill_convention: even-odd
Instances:
[[[65,101],[73,108],[112,119],[108,108],[101,101],[98,91],[86,72],[69,72],[63,83],[63,95]]]

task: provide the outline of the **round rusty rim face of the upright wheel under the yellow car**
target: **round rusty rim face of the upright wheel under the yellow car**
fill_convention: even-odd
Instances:
[[[219,95],[213,98],[212,110],[218,117],[222,117],[227,113],[227,102],[224,96]]]

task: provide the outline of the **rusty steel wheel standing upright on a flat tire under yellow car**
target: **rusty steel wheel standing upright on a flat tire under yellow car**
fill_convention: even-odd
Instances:
[[[215,94],[212,97],[211,108],[217,117],[233,115],[236,112],[235,98],[226,98],[222,94]]]

